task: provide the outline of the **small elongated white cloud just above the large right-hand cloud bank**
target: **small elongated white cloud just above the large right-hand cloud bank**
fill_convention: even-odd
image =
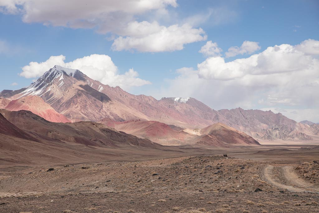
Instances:
[[[252,54],[260,48],[259,42],[244,41],[240,47],[230,47],[225,55],[226,57],[233,57],[237,55]]]

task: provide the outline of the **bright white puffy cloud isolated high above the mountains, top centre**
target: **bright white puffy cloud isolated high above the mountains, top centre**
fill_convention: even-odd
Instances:
[[[160,26],[156,21],[149,23],[131,22],[125,31],[114,40],[116,51],[136,49],[140,52],[163,52],[182,50],[184,44],[204,41],[207,36],[203,29],[192,28],[189,24]]]

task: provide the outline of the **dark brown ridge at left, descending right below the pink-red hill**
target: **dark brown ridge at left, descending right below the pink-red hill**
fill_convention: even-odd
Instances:
[[[26,110],[0,110],[0,112],[12,124],[42,140],[72,142],[97,147],[161,147],[152,141],[116,131],[99,123],[88,121],[66,124],[53,123]]]

